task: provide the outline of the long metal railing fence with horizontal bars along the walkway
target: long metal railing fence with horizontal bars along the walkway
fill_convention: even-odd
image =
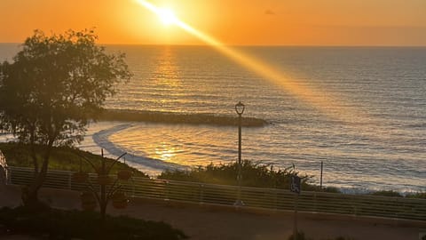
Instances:
[[[33,178],[29,168],[8,167],[9,183],[26,185]],[[75,182],[74,172],[50,171],[43,187],[83,190],[83,183]],[[95,182],[95,174],[91,175]],[[132,178],[123,181],[122,189],[132,197],[182,201],[186,203],[233,205],[238,187],[176,180]],[[426,221],[426,200],[406,197],[347,195],[303,191],[297,197],[300,212],[327,212],[354,216],[375,216],[391,219]],[[295,194],[285,189],[241,188],[243,207],[268,210],[293,210]]]

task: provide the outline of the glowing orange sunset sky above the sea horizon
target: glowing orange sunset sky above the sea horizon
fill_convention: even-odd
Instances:
[[[426,0],[152,0],[225,44],[426,45]],[[0,42],[96,27],[103,44],[201,44],[134,0],[0,0]]]

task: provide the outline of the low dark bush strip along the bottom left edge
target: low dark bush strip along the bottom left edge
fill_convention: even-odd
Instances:
[[[49,235],[50,239],[185,239],[187,236],[164,222],[107,216],[97,212],[28,210],[25,207],[0,210],[0,224],[12,233]]]

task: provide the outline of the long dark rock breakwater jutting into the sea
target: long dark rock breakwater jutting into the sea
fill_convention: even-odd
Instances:
[[[132,121],[152,122],[165,124],[209,124],[217,126],[236,126],[238,117],[204,114],[204,113],[176,113],[161,111],[142,111],[130,109],[106,109],[99,116],[103,121]],[[256,117],[242,117],[242,126],[263,127],[269,123],[264,119]]]

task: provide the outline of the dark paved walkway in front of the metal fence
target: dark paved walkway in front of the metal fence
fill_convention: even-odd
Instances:
[[[41,196],[51,206],[79,209],[79,193],[43,189]],[[0,186],[0,206],[20,204],[20,188]],[[129,215],[145,220],[158,220],[182,229],[191,239],[287,239],[293,231],[293,212],[259,212],[233,207],[198,204],[175,204],[165,201],[135,199],[125,210],[109,208],[111,214]],[[299,213],[298,228],[313,239],[352,237],[358,240],[419,239],[426,232],[426,221],[410,222],[374,218],[357,219],[336,215]],[[27,240],[29,236],[9,236],[0,228],[0,239]]]

